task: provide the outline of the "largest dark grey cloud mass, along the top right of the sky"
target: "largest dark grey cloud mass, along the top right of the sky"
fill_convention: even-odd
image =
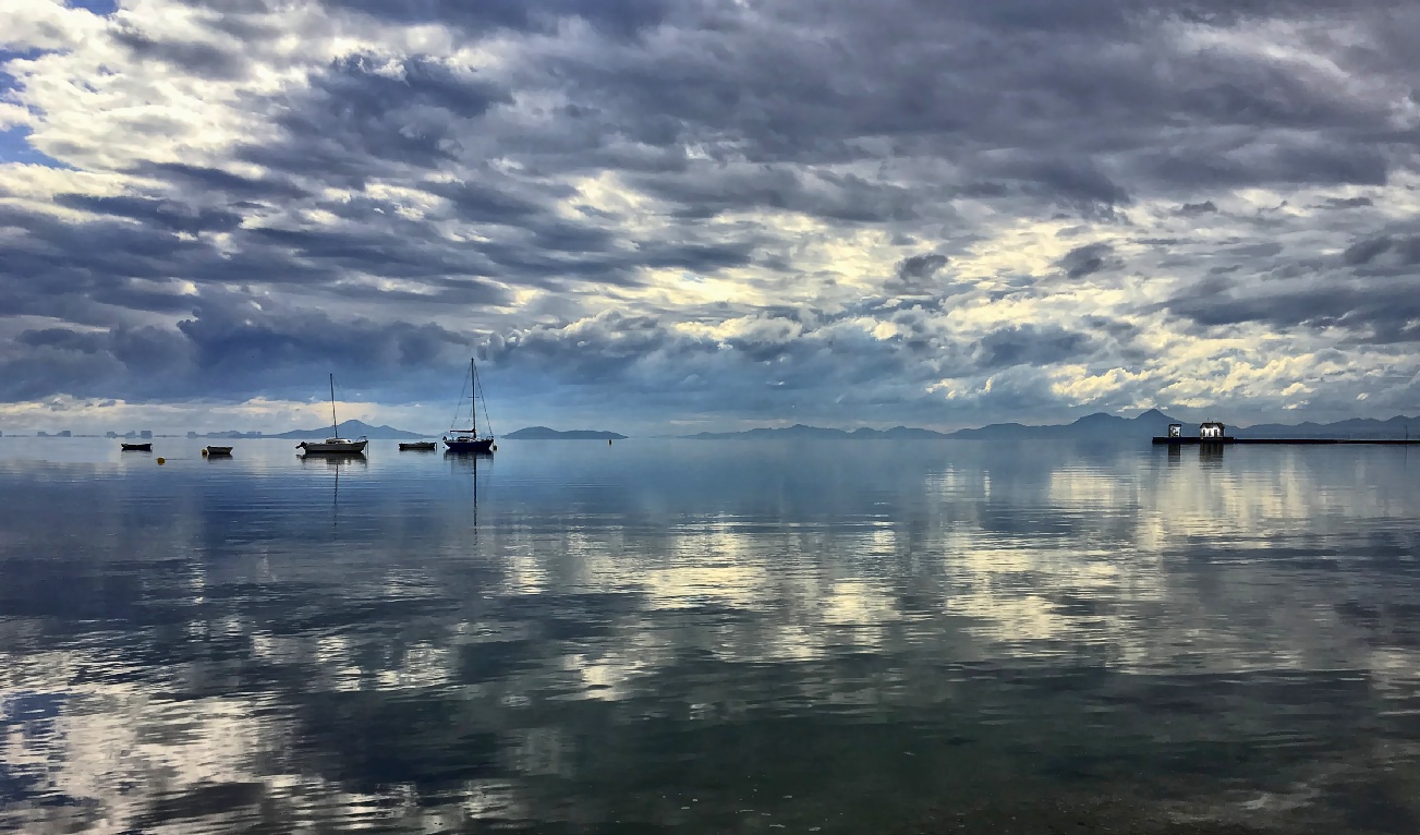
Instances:
[[[1170,9],[1218,26],[1184,14],[1197,4],[1092,4],[1061,27],[1024,23],[1061,17],[1052,4],[1022,3],[1005,16],[983,6],[821,3],[802,16],[771,6],[755,34],[700,31],[673,62],[632,50],[567,60],[561,74],[578,101],[598,101],[598,112],[649,145],[714,136],[711,155],[727,141],[753,162],[834,162],[861,156],[856,139],[889,136],[899,151],[970,163],[977,176],[961,186],[977,193],[994,180],[1079,204],[1129,202],[1129,186],[1106,168],[1187,186],[1384,179],[1382,153],[1338,141],[1383,141],[1387,114],[1369,102],[1322,94],[1258,57],[1179,53],[1160,65],[1149,47],[1176,51],[1159,40]],[[1102,50],[1100,37],[1130,48]],[[1223,149],[1207,131],[1162,142],[1174,119],[1287,132]]]

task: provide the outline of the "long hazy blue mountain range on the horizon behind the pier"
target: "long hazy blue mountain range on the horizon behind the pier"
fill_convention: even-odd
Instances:
[[[1287,426],[1264,423],[1260,426],[1228,426],[1234,437],[1404,437],[1410,435],[1407,423],[1414,423],[1413,432],[1420,435],[1420,418],[1396,416],[1389,420],[1350,419],[1336,423],[1299,423]],[[932,429],[821,429],[802,423],[784,429],[748,429],[746,432],[701,432],[683,437],[694,440],[751,440],[763,437],[778,439],[828,439],[828,440],[875,440],[875,439],[960,439],[960,440],[1147,440],[1167,435],[1170,423],[1183,423],[1184,435],[1197,435],[1197,425],[1177,420],[1159,409],[1149,409],[1137,418],[1119,418],[1096,412],[1074,423],[1049,426],[1025,426],[1022,423],[993,423],[980,429],[958,429],[957,432],[934,432]]]

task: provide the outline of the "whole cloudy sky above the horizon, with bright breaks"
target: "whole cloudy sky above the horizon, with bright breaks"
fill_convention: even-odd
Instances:
[[[0,430],[1420,408],[1411,0],[0,20]]]

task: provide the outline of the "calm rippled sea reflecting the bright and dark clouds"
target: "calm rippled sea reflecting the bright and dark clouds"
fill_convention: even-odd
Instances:
[[[0,829],[1420,831],[1403,449],[230,443],[0,439]]]

